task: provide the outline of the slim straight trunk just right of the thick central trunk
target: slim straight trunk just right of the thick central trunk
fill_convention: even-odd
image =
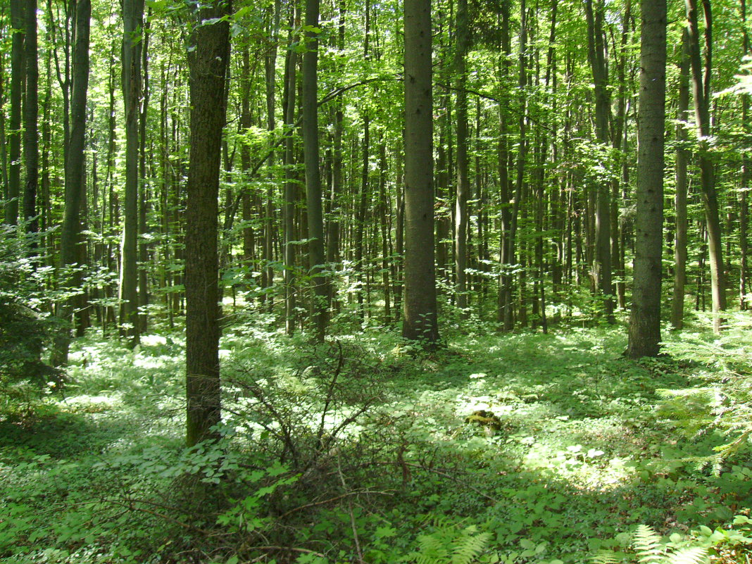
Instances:
[[[454,208],[454,269],[456,305],[465,314],[468,286],[465,270],[468,260],[468,94],[466,56],[469,44],[467,0],[457,0],[454,72],[456,73],[457,186]],[[476,171],[477,174],[477,171]]]

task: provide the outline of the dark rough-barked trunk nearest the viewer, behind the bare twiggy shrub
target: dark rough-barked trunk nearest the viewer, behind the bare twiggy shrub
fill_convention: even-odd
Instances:
[[[202,4],[188,46],[190,161],[186,208],[186,443],[220,422],[217,198],[229,60],[229,0]]]

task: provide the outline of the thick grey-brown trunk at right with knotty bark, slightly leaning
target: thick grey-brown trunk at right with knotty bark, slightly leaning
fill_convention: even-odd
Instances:
[[[660,350],[663,251],[663,138],[666,122],[666,0],[641,0],[635,268],[629,346],[632,358]]]

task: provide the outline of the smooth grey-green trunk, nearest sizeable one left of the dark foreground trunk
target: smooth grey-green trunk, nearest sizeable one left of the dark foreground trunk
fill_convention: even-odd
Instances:
[[[144,0],[123,0],[123,103],[126,114],[126,183],[123,265],[120,274],[121,335],[129,346],[139,339],[138,323],[138,117],[141,101],[141,45]]]

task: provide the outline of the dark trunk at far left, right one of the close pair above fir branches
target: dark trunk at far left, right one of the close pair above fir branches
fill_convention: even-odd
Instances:
[[[26,0],[26,103],[23,105],[23,156],[26,164],[26,190],[23,193],[23,217],[26,231],[39,229],[37,189],[39,184],[39,67],[37,54],[37,2]]]

